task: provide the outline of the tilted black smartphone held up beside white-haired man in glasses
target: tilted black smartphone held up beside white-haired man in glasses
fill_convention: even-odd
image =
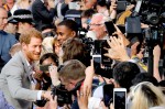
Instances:
[[[108,35],[111,36],[117,30],[112,21],[105,22]]]

